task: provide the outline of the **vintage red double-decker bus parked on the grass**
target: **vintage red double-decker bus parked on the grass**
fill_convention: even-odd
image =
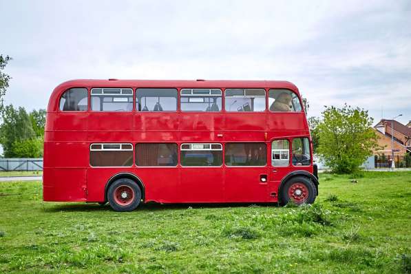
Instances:
[[[286,81],[74,80],[50,97],[43,200],[312,203],[312,143]]]

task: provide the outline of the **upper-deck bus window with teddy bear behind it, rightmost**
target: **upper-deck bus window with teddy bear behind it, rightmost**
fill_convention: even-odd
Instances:
[[[271,112],[301,112],[297,94],[288,89],[270,89],[268,106]]]

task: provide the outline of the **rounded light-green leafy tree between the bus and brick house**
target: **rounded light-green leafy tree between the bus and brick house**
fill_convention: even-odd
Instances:
[[[368,111],[344,105],[326,107],[317,125],[319,155],[337,173],[352,173],[378,148]]]

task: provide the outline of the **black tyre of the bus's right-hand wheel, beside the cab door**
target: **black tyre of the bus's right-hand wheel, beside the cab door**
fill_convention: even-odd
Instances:
[[[285,184],[284,187],[282,187],[280,191],[280,204],[285,205],[287,204],[293,197],[290,197],[289,191],[292,191],[292,187],[297,190],[305,189],[308,191],[308,195],[304,196],[305,191],[302,191],[302,195],[304,196],[299,197],[295,193],[296,199],[293,199],[296,204],[312,204],[315,201],[315,198],[317,197],[317,188],[315,187],[314,183],[307,177],[305,176],[295,176],[288,180]],[[304,189],[304,190],[305,190]],[[298,200],[301,198],[302,200]]]

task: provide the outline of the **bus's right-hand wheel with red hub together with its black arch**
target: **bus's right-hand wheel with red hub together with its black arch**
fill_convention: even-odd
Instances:
[[[318,196],[318,180],[306,171],[288,174],[278,189],[278,202],[284,205],[291,198],[302,204],[312,204]]]

